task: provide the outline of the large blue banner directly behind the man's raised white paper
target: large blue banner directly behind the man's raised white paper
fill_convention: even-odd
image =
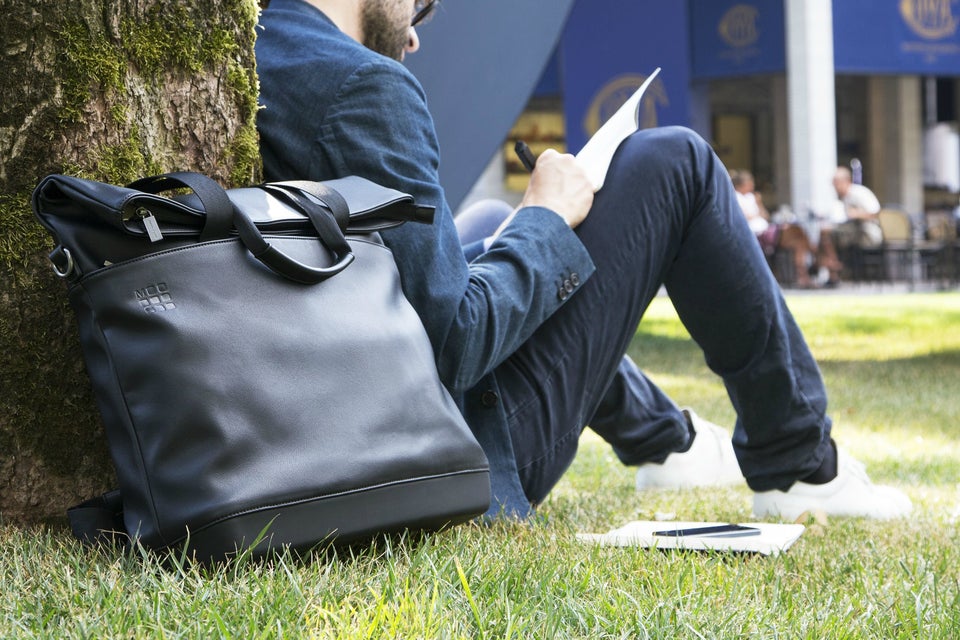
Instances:
[[[578,0],[560,41],[567,150],[576,153],[657,67],[641,126],[688,125],[685,2]]]

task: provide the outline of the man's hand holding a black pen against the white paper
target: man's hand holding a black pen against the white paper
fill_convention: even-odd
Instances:
[[[537,158],[520,206],[546,207],[575,229],[593,206],[593,187],[572,155],[547,149]]]

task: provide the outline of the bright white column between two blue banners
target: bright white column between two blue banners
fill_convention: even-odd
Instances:
[[[786,0],[785,8],[792,206],[826,212],[837,198],[833,4]]]

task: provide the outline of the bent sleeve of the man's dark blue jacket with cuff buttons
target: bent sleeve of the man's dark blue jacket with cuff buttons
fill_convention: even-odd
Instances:
[[[436,207],[432,226],[408,223],[383,238],[451,391],[471,388],[506,359],[594,271],[563,219],[538,207],[520,210],[489,250],[467,263],[440,187],[426,98],[399,63],[367,63],[341,85],[314,150],[318,175],[364,176]]]

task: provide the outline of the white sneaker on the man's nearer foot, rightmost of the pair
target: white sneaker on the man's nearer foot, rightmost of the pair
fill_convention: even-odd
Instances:
[[[876,520],[900,518],[913,510],[902,491],[870,482],[863,464],[837,450],[837,477],[826,484],[794,483],[787,491],[762,491],[753,496],[753,515],[795,521],[804,512],[828,516],[862,516]]]

